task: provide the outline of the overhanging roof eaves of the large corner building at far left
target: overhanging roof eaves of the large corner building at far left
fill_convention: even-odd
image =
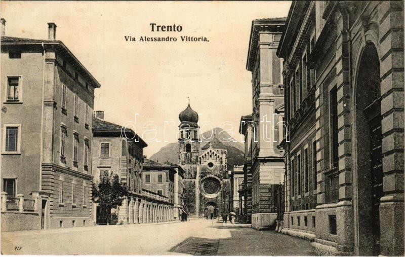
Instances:
[[[14,36],[2,36],[2,46],[41,46],[49,49],[56,49],[61,53],[61,56],[66,58],[72,63],[72,66],[92,85],[94,88],[101,87],[100,83],[93,77],[93,75],[86,69],[86,67],[73,55],[72,52],[59,40],[37,40],[37,39],[24,39],[15,38]]]

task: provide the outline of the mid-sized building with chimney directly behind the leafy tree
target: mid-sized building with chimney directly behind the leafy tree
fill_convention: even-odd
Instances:
[[[117,212],[118,223],[133,224],[142,221],[139,208],[144,204],[142,197],[143,148],[147,144],[134,131],[127,129],[124,138],[123,127],[104,120],[104,112],[96,111],[93,117],[93,181],[97,184],[105,176],[117,174],[120,183],[126,186],[128,197]],[[131,138],[131,140],[130,140]],[[94,222],[105,224],[110,213],[97,204]]]

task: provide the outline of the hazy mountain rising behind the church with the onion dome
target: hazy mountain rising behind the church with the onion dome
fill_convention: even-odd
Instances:
[[[221,128],[214,128],[213,129],[215,135],[222,139],[222,143],[226,146],[228,150],[228,170],[233,170],[234,165],[243,165],[244,164],[244,145],[240,142],[227,142],[224,138],[230,138],[230,135]],[[202,134],[204,138],[209,138],[211,135],[210,131],[206,131]],[[200,138],[201,134],[200,134]],[[200,143],[200,150],[201,148],[206,145],[208,141],[203,141]],[[150,158],[152,161],[159,161],[159,162],[166,162],[169,161],[171,163],[177,163],[178,158],[178,144],[176,143],[168,143],[167,145],[163,146],[157,153],[153,154]]]

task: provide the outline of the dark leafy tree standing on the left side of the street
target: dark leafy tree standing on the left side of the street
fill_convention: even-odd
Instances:
[[[100,182],[93,184],[92,198],[95,203],[108,213],[107,224],[111,219],[111,209],[116,209],[123,204],[124,197],[128,195],[125,186],[119,182],[117,174],[101,177]]]

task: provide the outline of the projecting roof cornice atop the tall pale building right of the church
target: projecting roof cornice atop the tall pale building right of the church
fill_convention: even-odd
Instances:
[[[256,54],[259,42],[259,32],[269,31],[269,32],[279,32],[284,30],[284,24],[286,23],[286,18],[265,18],[256,19],[252,21],[252,28],[250,32],[250,41],[248,48],[248,60],[246,62],[246,69],[252,71],[254,67],[254,62],[256,60]]]

